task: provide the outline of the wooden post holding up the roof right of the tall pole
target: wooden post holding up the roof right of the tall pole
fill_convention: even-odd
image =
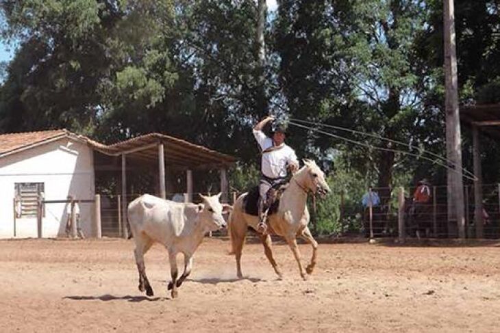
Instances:
[[[473,137],[473,164],[474,164],[474,223],[476,225],[476,238],[483,238],[483,176],[481,170],[481,148],[479,146],[479,130],[472,126]]]

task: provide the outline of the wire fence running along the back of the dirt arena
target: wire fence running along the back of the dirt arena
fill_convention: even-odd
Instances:
[[[398,187],[397,190],[373,187],[366,189],[360,198],[349,197],[346,195],[346,191],[342,190],[338,191],[338,193],[334,192],[324,199],[330,200],[333,204],[323,204],[318,200],[318,206],[322,208],[318,210],[310,200],[310,229],[316,234],[354,234],[369,238],[401,236],[419,238],[459,237],[457,222],[453,218],[448,218],[447,187],[430,186],[429,198],[426,202],[414,202],[415,190],[415,187],[407,187],[403,189],[403,193],[400,193],[401,187]],[[224,194],[221,202],[234,204],[234,201],[241,193],[232,191],[229,194]],[[477,194],[481,194],[479,200],[476,198]],[[123,197],[121,195],[101,194],[96,196],[99,197],[99,206],[93,199],[75,198],[75,201],[79,204],[84,204],[84,206],[88,204],[94,207],[92,208],[94,210],[97,209],[95,207],[99,207],[99,224],[92,222],[93,224],[88,226],[86,232],[89,235],[102,235],[103,237],[128,237],[127,205],[140,195],[142,194],[127,194]],[[158,194],[153,195],[158,196]],[[210,193],[205,195],[210,195]],[[187,193],[167,193],[166,199],[175,202],[199,203],[202,201],[197,194]],[[40,198],[39,201],[42,204],[38,209],[37,218],[40,217],[38,223],[40,226],[38,228],[39,235],[41,235],[42,218],[47,218],[46,215],[51,212],[51,209],[64,211],[64,208],[59,206],[68,205],[71,200],[66,198],[62,200]],[[18,198],[14,198],[13,204],[15,230],[16,219],[22,216],[23,207]],[[477,204],[478,207],[476,208]],[[87,219],[89,220],[97,218],[97,213],[92,213],[92,209],[88,209],[87,214],[89,216]],[[499,239],[500,184],[483,184],[478,187],[477,191],[475,191],[474,185],[465,185],[464,214],[464,231],[467,238]],[[69,213],[59,215],[67,219]],[[227,218],[228,215],[225,215],[225,217]],[[322,224],[328,224],[329,228],[325,228]],[[97,226],[100,226],[100,233],[95,230],[98,228]],[[74,231],[72,230],[72,233]],[[213,232],[213,235],[225,236],[227,231]]]

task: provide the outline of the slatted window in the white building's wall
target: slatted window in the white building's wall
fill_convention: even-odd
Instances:
[[[36,217],[38,196],[44,191],[44,183],[15,183],[17,217]]]

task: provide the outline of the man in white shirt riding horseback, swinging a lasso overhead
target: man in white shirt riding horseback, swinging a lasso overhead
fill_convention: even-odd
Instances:
[[[258,122],[253,127],[253,136],[257,140],[262,151],[261,177],[259,183],[259,224],[257,231],[264,234],[266,232],[266,216],[271,202],[268,202],[267,193],[271,187],[286,181],[287,170],[292,173],[299,168],[299,161],[295,150],[285,144],[286,124],[275,122],[272,128],[272,135],[268,137],[262,132],[264,126],[275,120],[275,117],[268,116]]]

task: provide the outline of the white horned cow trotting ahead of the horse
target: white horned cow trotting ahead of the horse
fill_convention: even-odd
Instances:
[[[201,195],[200,195],[201,196]],[[147,280],[144,255],[153,243],[161,243],[168,250],[172,281],[172,297],[177,297],[177,287],[186,280],[192,268],[192,255],[209,231],[225,228],[222,216],[231,206],[221,204],[216,196],[201,196],[203,203],[179,203],[145,194],[130,202],[128,218],[130,230],[134,235],[137,269],[139,271],[139,290],[148,296],[153,289]],[[177,253],[184,254],[184,274],[177,280]]]

